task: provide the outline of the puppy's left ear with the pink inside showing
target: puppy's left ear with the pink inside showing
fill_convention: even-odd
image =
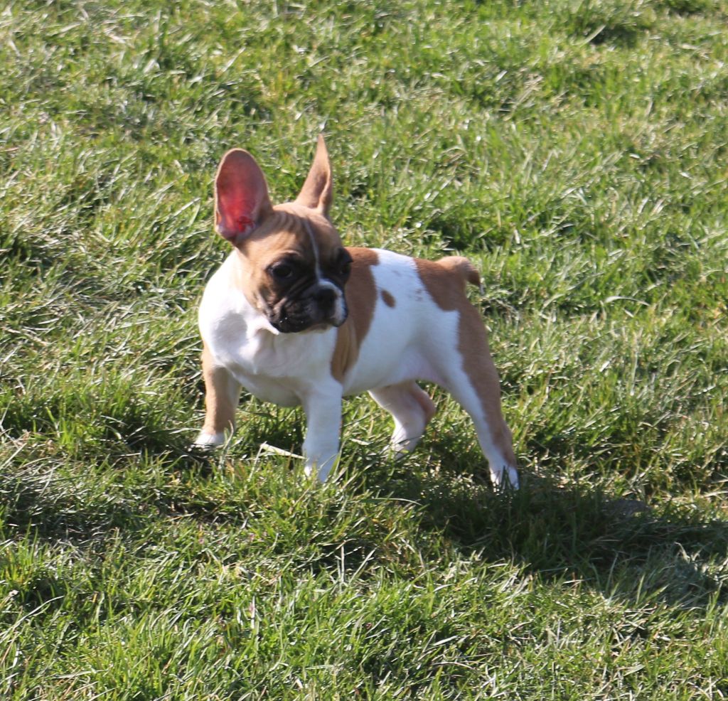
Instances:
[[[248,236],[272,211],[268,184],[248,151],[233,148],[215,177],[215,229],[235,244]]]

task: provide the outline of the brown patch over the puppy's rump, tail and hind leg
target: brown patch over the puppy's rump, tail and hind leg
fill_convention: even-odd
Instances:
[[[439,261],[415,258],[417,272],[440,309],[459,314],[458,351],[462,369],[480,398],[491,438],[505,459],[515,466],[513,439],[503,420],[500,381],[488,346],[488,331],[478,310],[465,296],[466,282],[480,284],[480,275],[467,258],[447,256]]]

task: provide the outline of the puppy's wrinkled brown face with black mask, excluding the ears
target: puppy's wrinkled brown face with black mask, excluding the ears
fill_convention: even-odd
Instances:
[[[294,204],[274,207],[241,242],[248,300],[281,333],[340,326],[352,257],[322,215]]]

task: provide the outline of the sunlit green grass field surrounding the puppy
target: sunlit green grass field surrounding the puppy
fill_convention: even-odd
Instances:
[[[0,9],[0,697],[728,697],[725,0],[9,0]],[[227,148],[351,245],[467,255],[523,488],[466,415],[336,480],[196,308]]]

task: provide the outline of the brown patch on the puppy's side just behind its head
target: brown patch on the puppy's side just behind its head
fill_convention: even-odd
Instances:
[[[344,381],[349,368],[357,362],[359,349],[371,326],[376,304],[376,285],[371,267],[379,264],[376,251],[347,248],[352,256],[352,274],[344,288],[349,316],[336,333],[336,347],[331,358],[331,374]]]

